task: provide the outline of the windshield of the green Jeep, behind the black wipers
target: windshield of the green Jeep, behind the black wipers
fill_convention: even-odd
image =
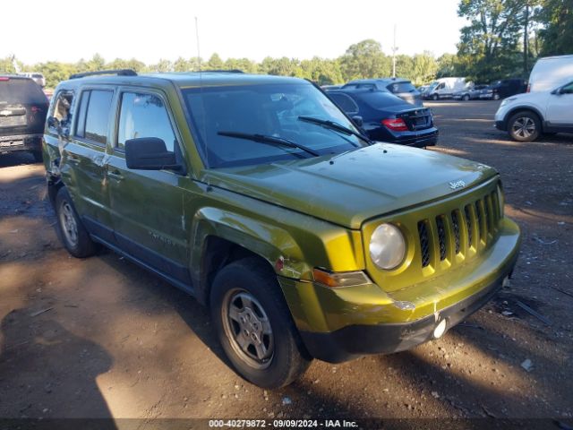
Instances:
[[[350,133],[301,120],[300,117],[312,116],[358,133],[338,107],[310,83],[203,87],[184,89],[183,94],[192,129],[199,140],[198,149],[209,168],[315,156],[294,144],[261,142],[268,143],[273,138],[302,145],[318,155],[338,154],[367,145]],[[236,133],[252,137],[237,138]]]

